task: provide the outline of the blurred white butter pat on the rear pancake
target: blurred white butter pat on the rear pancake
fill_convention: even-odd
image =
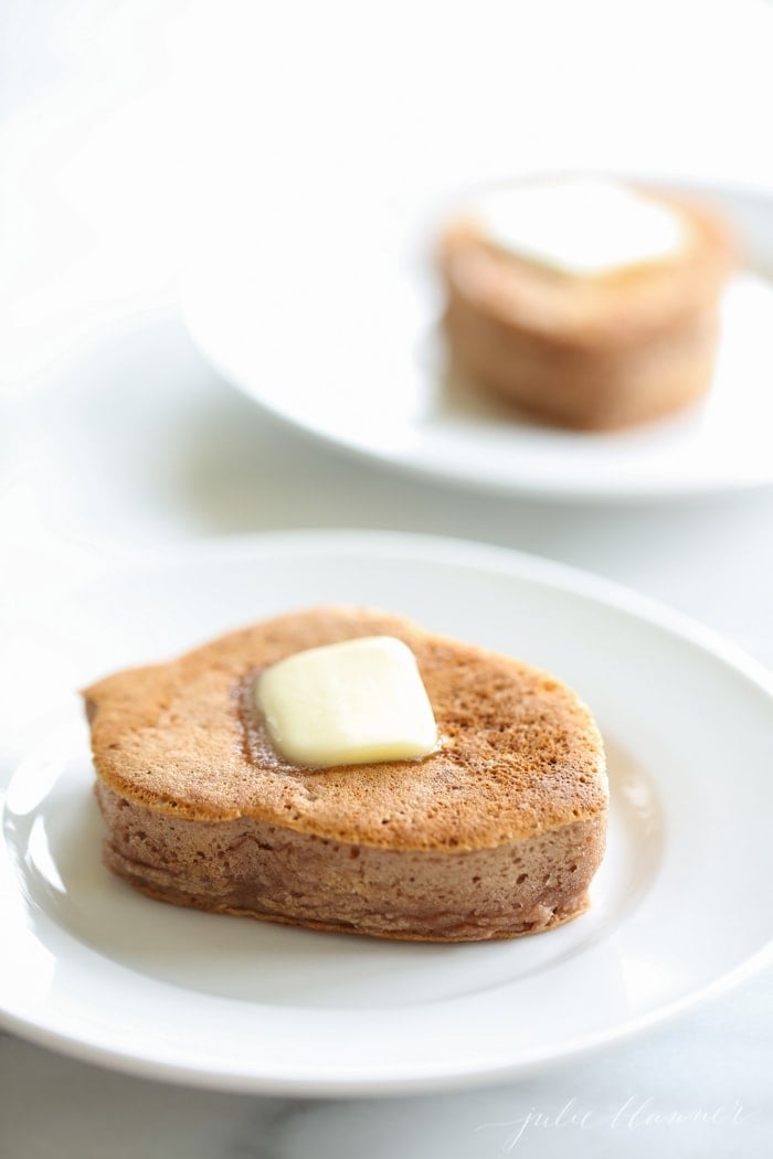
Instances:
[[[677,210],[598,177],[494,189],[472,216],[498,249],[574,277],[672,257],[688,228]]]

